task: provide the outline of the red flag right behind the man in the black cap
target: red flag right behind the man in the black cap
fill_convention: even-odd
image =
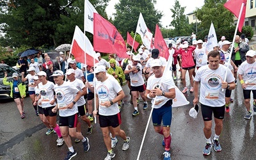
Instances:
[[[162,33],[159,29],[159,26],[156,24],[156,32],[155,32],[155,40],[154,40],[154,47],[159,50],[159,56],[164,57],[168,60],[169,51],[166,43],[164,42],[164,38]]]

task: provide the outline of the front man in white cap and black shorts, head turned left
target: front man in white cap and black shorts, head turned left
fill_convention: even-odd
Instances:
[[[112,159],[115,153],[111,148],[111,138],[109,128],[112,128],[116,135],[124,140],[122,150],[129,148],[130,138],[120,129],[121,118],[117,102],[125,97],[122,87],[118,81],[113,80],[111,76],[106,76],[106,68],[97,66],[94,70],[96,81],[96,110],[93,115],[99,115],[99,124],[103,134],[104,143],[108,149],[108,155],[105,159]]]

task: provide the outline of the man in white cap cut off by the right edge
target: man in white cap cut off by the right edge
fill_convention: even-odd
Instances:
[[[256,62],[255,51],[246,52],[246,61],[238,68],[238,77],[243,88],[244,104],[246,107],[245,119],[250,120],[252,117],[251,111],[251,92],[253,93],[253,111],[256,112]]]

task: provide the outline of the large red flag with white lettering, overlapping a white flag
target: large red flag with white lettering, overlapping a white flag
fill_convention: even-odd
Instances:
[[[127,58],[125,41],[115,26],[97,13],[93,13],[94,51],[117,54]]]

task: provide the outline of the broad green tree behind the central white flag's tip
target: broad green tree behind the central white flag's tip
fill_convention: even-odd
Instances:
[[[116,13],[114,14],[113,24],[126,38],[127,31],[136,31],[141,12],[148,29],[154,32],[156,24],[159,24],[159,20],[163,17],[163,13],[154,8],[154,3],[156,3],[155,0],[120,0],[115,5]]]

